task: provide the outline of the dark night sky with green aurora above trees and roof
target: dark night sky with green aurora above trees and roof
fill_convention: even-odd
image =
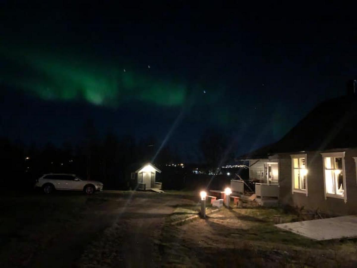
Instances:
[[[78,142],[91,119],[102,135],[170,133],[190,160],[215,128],[239,155],[356,78],[355,14],[333,5],[118,3],[1,5],[1,136]]]

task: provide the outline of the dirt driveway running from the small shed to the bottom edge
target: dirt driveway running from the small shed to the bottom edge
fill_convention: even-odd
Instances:
[[[134,194],[121,200],[115,223],[92,243],[80,267],[157,267],[158,239],[167,215],[189,200],[157,193]],[[93,260],[91,256],[100,256]]]

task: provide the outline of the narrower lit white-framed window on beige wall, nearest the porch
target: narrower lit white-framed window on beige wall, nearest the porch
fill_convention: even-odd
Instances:
[[[307,195],[306,154],[291,155],[292,192]]]

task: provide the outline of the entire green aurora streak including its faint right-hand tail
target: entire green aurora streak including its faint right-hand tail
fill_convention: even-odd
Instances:
[[[246,118],[255,121],[255,114],[250,112],[253,109],[246,109],[244,95],[231,98],[224,83],[212,82],[209,77],[201,77],[192,84],[182,74],[157,71],[160,68],[153,65],[149,68],[150,63],[136,65],[128,59],[106,60],[75,50],[48,52],[42,48],[39,52],[34,48],[15,48],[1,48],[0,56],[9,65],[1,80],[43,101],[84,100],[109,109],[129,105],[144,118],[147,110],[155,107],[161,111],[170,108],[174,114],[188,108],[187,124],[199,123],[203,128],[205,124],[239,127],[240,121]],[[140,103],[144,106],[137,106]],[[170,120],[174,121],[175,117]],[[274,131],[276,136],[280,135],[280,127],[274,127]]]

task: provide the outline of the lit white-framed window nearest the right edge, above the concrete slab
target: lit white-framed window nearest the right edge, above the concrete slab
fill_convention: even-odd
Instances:
[[[345,153],[322,153],[325,198],[344,198],[346,202]]]

